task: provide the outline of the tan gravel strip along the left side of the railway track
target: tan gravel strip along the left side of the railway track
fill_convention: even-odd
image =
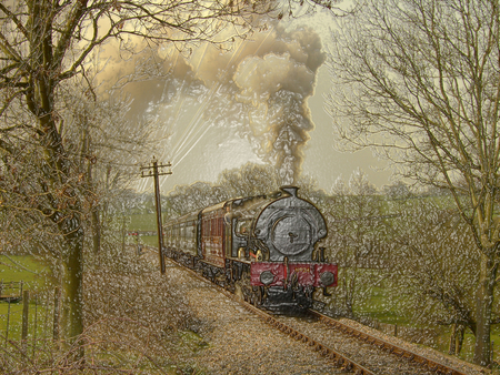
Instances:
[[[207,348],[186,357],[210,374],[346,374],[228,298],[217,286],[167,261],[166,276],[184,291]]]

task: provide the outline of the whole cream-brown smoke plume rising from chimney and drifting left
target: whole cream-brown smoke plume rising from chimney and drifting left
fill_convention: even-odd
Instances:
[[[168,50],[162,53],[168,78],[142,82],[131,91],[139,112],[164,132],[183,134],[177,144],[166,143],[166,150],[189,152],[187,144],[192,148],[203,129],[217,126],[247,138],[257,155],[277,168],[282,183],[297,182],[314,126],[307,99],[324,61],[312,29],[288,32],[274,24],[231,52],[207,45],[188,60]]]

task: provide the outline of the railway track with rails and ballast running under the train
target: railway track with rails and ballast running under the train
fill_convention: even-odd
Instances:
[[[170,261],[197,277],[207,281],[207,278],[193,270],[173,260]],[[370,335],[319,312],[310,311],[309,318],[276,316],[243,301],[222,286],[217,284],[212,285],[227,297],[237,301],[247,311],[259,316],[270,326],[273,326],[296,341],[302,342],[310,349],[331,359],[336,366],[341,367],[344,372],[357,375],[470,374],[469,372],[457,369],[449,364],[426,357],[422,354],[418,354],[387,339]]]

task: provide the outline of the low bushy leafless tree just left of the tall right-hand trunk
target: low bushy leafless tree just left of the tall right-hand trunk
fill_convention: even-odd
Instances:
[[[466,330],[476,333],[479,256],[470,229],[450,203],[436,196],[388,201],[387,274],[391,295],[412,321],[451,325],[449,353],[459,354]]]

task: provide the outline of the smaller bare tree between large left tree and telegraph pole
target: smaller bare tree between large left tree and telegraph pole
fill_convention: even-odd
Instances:
[[[89,69],[83,81],[93,83]],[[86,232],[91,236],[93,253],[98,254],[110,205],[124,199],[127,189],[137,180],[139,161],[150,158],[157,143],[152,136],[156,124],[129,115],[132,100],[128,95],[98,100],[98,94],[84,83],[61,92],[60,102],[66,112],[63,140],[73,155],[74,172],[84,180],[80,190],[84,196],[82,213],[90,223],[90,231]]]

